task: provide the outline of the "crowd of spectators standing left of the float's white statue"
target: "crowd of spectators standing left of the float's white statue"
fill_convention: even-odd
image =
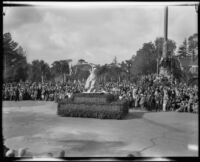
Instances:
[[[70,97],[73,93],[82,92],[84,84],[81,82],[61,83],[36,83],[20,82],[3,84],[3,100],[45,100],[57,101]]]

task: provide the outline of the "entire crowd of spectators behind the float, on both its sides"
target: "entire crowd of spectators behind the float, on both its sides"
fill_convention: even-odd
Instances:
[[[57,101],[84,92],[85,82],[3,84],[3,100]],[[149,111],[198,111],[198,87],[176,83],[155,74],[141,76],[137,83],[128,81],[99,83],[97,91],[128,100],[130,107]]]

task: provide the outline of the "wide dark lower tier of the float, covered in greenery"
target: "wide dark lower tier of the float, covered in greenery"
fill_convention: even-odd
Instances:
[[[67,117],[86,117],[99,119],[122,119],[128,114],[128,104],[117,101],[109,104],[59,102],[57,114]]]

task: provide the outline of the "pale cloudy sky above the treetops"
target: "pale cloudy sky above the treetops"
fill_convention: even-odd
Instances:
[[[83,3],[83,2],[82,2]],[[27,61],[79,59],[111,63],[130,59],[143,43],[164,35],[164,6],[117,5],[6,7],[3,33],[26,51]],[[81,4],[81,3],[80,3]],[[197,33],[194,6],[169,6],[168,38],[177,48]]]

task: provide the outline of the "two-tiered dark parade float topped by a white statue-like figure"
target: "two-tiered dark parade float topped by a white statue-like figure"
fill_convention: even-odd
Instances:
[[[65,117],[123,119],[128,114],[128,102],[113,94],[98,91],[96,67],[91,65],[85,92],[58,101],[57,114]]]

